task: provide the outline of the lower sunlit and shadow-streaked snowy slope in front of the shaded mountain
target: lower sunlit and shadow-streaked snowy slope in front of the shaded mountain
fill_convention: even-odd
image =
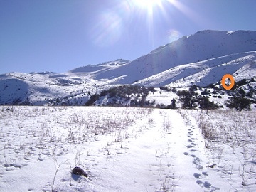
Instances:
[[[256,52],[237,53],[203,60],[196,63],[178,65],[164,72],[152,75],[133,85],[159,87],[207,86],[219,82],[226,73],[233,74],[236,81],[256,74]]]

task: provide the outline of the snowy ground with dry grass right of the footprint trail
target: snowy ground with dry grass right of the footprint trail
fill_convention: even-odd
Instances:
[[[255,191],[255,112],[215,110],[203,119],[202,114],[191,115],[198,124],[213,129],[215,139],[206,141],[206,147],[216,163],[215,169],[234,189]]]

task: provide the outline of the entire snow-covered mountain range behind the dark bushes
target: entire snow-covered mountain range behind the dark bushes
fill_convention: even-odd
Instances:
[[[82,105],[93,93],[117,85],[188,87],[256,74],[256,31],[198,31],[143,55],[75,68],[67,73],[0,75],[0,105],[68,100]]]

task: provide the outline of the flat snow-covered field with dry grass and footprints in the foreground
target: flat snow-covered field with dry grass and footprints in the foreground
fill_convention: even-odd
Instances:
[[[256,191],[255,127],[255,111],[1,106],[0,191]]]

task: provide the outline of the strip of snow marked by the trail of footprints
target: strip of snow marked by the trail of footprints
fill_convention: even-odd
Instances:
[[[230,189],[228,183],[222,180],[216,171],[207,166],[207,149],[204,146],[203,135],[201,135],[200,129],[196,125],[196,121],[188,117],[187,114],[183,114],[183,119],[185,122],[183,131],[179,131],[180,133],[183,133],[183,137],[181,137],[180,134],[179,138],[184,142],[184,145],[186,145],[186,151],[183,151],[183,156],[186,158],[186,160],[184,160],[186,161],[186,164],[183,164],[183,169],[186,169],[186,172],[184,171],[185,175],[182,175],[181,177],[186,177],[188,179],[187,181],[191,184],[191,189],[187,188],[187,190],[226,191]],[[176,127],[174,127],[174,131],[175,130]],[[186,140],[186,142],[184,140]],[[182,146],[177,146],[182,149]],[[196,188],[193,183],[196,183],[200,188]]]

